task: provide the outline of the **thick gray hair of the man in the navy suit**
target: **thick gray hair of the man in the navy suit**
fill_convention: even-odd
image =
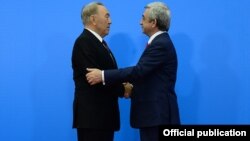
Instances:
[[[149,8],[149,20],[156,20],[159,30],[168,31],[171,20],[169,8],[162,2],[149,3],[145,8]]]

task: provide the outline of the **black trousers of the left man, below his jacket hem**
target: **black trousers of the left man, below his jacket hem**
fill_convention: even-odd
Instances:
[[[113,141],[113,130],[77,128],[78,141]]]

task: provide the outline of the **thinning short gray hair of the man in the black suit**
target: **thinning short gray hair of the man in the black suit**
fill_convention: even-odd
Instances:
[[[98,11],[97,6],[102,5],[100,2],[91,2],[82,8],[81,19],[84,25],[90,22],[90,16],[96,14]]]

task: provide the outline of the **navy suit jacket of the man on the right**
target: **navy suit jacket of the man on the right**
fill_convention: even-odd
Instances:
[[[158,35],[134,67],[104,71],[106,84],[133,83],[131,126],[180,124],[175,83],[177,55],[168,35]]]

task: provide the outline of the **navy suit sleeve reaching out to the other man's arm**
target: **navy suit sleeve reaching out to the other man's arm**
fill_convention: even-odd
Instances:
[[[164,63],[167,54],[168,49],[166,47],[160,43],[155,43],[145,50],[136,66],[118,70],[105,70],[105,83],[133,83],[133,81],[143,79],[147,75],[153,74],[154,70]]]

